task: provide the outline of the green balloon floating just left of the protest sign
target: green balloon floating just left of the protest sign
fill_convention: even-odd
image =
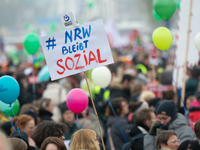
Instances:
[[[36,34],[30,33],[24,39],[24,47],[26,51],[34,55],[40,47],[40,41]]]

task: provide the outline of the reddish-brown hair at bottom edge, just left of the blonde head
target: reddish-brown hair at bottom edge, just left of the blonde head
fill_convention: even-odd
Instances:
[[[48,137],[42,142],[40,150],[46,150],[46,147],[48,144],[55,144],[58,148],[58,150],[67,150],[65,144],[63,143],[62,140],[60,140],[57,137]]]

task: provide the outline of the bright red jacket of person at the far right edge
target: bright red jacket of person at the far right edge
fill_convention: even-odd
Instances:
[[[200,119],[200,103],[194,100],[189,107],[188,124],[194,131],[194,125]]]

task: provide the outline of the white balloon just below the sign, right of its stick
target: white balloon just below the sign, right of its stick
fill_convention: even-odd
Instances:
[[[111,81],[111,72],[105,67],[101,66],[92,70],[92,80],[94,84],[105,88],[110,84]]]

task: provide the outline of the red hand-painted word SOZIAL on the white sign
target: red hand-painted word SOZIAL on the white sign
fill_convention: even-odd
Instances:
[[[73,69],[74,69],[74,70],[79,70],[79,69],[85,68],[85,66],[87,66],[87,65],[90,65],[90,64],[91,64],[91,61],[95,61],[96,63],[104,63],[104,62],[107,61],[107,59],[101,60],[101,54],[100,54],[100,50],[99,50],[99,49],[97,49],[96,52],[97,52],[97,57],[96,57],[96,55],[95,55],[92,51],[90,51],[90,52],[89,52],[89,58],[87,59],[87,57],[86,57],[86,55],[85,55],[85,50],[83,50],[83,55],[81,55],[81,54],[75,54],[75,55],[74,55],[74,58],[78,58],[76,62],[74,62],[74,60],[73,60],[71,57],[67,57],[67,58],[65,59],[65,67],[66,67],[68,70],[73,70]],[[78,66],[80,57],[82,57],[82,56],[84,57],[85,65],[83,65],[83,66]],[[67,61],[71,61],[71,62],[72,62],[73,65],[72,65],[71,68],[68,66]],[[57,71],[57,73],[58,73],[59,75],[62,75],[62,74],[65,72],[65,67],[64,67],[63,65],[60,64],[60,63],[62,63],[62,62],[63,62],[63,59],[59,59],[59,60],[57,61],[57,63],[56,63],[57,66],[60,67],[60,68],[62,69],[62,71]]]

